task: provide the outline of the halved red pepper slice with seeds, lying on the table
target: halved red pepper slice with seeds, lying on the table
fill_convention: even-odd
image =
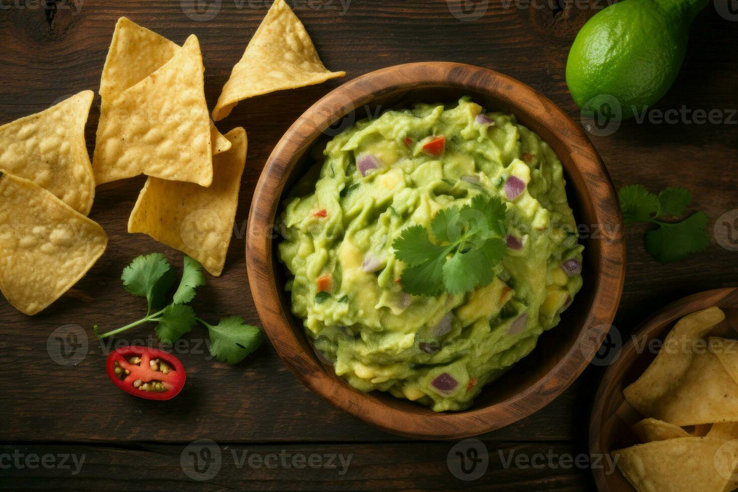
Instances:
[[[130,395],[147,400],[169,400],[184,387],[182,362],[164,350],[120,347],[108,356],[108,378]]]

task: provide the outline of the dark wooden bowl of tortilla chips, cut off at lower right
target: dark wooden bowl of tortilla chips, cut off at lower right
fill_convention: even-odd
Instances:
[[[663,342],[678,319],[711,306],[725,311],[725,321],[717,325],[716,333],[729,333],[728,328],[738,331],[738,288],[718,288],[672,302],[646,319],[623,345],[620,355],[607,367],[597,390],[590,419],[590,456],[602,456],[613,449],[640,443],[630,426],[644,415],[625,401],[623,389],[638,379],[656,357],[655,350],[648,348],[652,340]],[[619,469],[611,474],[607,471],[607,468],[592,470],[601,492],[635,490]]]

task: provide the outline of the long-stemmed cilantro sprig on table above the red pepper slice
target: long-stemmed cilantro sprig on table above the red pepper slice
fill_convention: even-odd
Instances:
[[[210,333],[210,354],[218,361],[229,364],[243,360],[261,344],[261,330],[247,325],[240,316],[222,319],[218,325],[210,325],[196,316],[189,302],[195,298],[196,288],[205,285],[205,277],[202,266],[193,258],[184,257],[182,279],[171,302],[163,308],[166,294],[175,280],[174,271],[163,254],[152,253],[137,257],[123,269],[121,280],[130,294],[146,298],[146,316],[102,335],[97,333],[95,325],[94,332],[99,339],[123,333],[147,322],[155,322],[154,331],[159,340],[172,344],[185,333],[189,333],[197,322],[201,322]]]

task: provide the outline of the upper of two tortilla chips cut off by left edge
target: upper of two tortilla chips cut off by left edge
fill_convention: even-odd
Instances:
[[[30,179],[87,215],[94,176],[85,145],[92,91],[0,126],[0,171]]]

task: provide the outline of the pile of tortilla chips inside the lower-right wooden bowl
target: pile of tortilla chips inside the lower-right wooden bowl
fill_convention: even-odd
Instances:
[[[723,319],[717,307],[684,316],[624,389],[628,403],[646,416],[632,426],[643,444],[612,454],[637,491],[738,486],[738,343],[708,338]]]

